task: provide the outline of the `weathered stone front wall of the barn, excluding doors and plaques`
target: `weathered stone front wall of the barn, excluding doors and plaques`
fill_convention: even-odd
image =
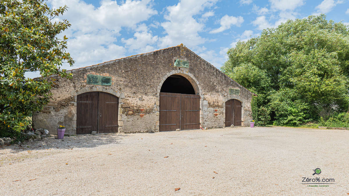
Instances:
[[[176,59],[189,61],[189,68],[174,67]],[[49,129],[54,134],[57,125],[65,125],[66,132],[76,133],[76,96],[102,91],[119,97],[119,132],[158,131],[159,92],[162,83],[172,74],[186,77],[200,95],[201,127],[224,127],[225,101],[232,98],[243,104],[243,125],[248,126],[252,119],[252,93],[183,45],[71,71],[74,74],[71,80],[53,76],[57,85],[51,90],[52,100],[42,112],[33,115],[35,127]],[[110,76],[112,84],[88,85],[88,74]],[[240,89],[240,95],[229,95],[229,88]]]

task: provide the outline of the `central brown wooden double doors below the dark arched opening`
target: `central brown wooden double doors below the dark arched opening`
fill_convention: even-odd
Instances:
[[[159,131],[200,128],[200,96],[160,92]]]

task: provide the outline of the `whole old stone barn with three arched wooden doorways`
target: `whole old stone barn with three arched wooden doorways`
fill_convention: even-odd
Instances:
[[[139,133],[248,126],[253,93],[180,44],[52,76],[35,128],[57,134]]]

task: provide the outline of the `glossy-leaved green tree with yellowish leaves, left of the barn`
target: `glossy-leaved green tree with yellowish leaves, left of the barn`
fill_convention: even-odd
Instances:
[[[0,0],[0,129],[25,128],[26,117],[50,99],[54,80],[49,76],[72,77],[61,68],[74,63],[66,52],[68,38],[57,38],[70,24],[52,21],[66,10],[51,9],[44,0]],[[28,71],[42,78],[25,78]]]

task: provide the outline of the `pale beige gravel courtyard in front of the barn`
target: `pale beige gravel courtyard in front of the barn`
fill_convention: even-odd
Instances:
[[[0,195],[347,195],[348,141],[289,127],[51,137],[0,148]]]

